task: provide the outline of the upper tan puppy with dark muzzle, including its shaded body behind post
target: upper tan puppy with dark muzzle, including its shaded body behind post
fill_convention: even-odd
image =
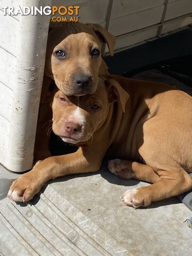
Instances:
[[[52,118],[53,79],[66,95],[94,93],[98,75],[108,74],[101,58],[101,45],[107,43],[114,54],[115,37],[97,24],[60,22],[50,25],[47,39],[45,75],[34,150],[35,161],[51,155],[47,122]]]

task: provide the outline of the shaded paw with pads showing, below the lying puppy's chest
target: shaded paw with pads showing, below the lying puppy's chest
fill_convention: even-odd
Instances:
[[[133,178],[133,172],[129,167],[129,161],[121,159],[113,159],[108,161],[108,169],[111,173],[118,175],[123,179]]]

